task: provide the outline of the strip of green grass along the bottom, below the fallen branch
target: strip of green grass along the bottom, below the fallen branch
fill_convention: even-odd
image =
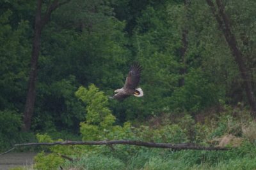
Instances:
[[[241,146],[229,151],[171,151],[138,149],[134,155],[119,159],[115,153],[84,155],[75,162],[65,162],[65,169],[256,169],[255,145]],[[125,153],[124,153],[125,154]]]

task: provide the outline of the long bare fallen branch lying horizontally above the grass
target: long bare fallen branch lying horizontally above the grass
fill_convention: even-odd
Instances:
[[[113,140],[113,141],[56,141],[53,143],[21,143],[15,144],[14,147],[0,155],[4,155],[11,152],[14,148],[19,146],[53,146],[53,145],[135,145],[135,146],[145,146],[148,148],[170,148],[173,150],[228,150],[228,148],[212,147],[212,146],[196,146],[189,143],[153,143],[153,142],[143,142],[143,141],[128,141],[128,140]]]

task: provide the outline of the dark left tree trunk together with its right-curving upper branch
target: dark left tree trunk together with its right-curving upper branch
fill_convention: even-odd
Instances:
[[[44,26],[49,22],[52,11],[56,10],[59,6],[68,3],[69,0],[59,2],[54,0],[48,7],[45,14],[42,16],[42,0],[37,1],[36,15],[35,15],[35,28],[34,28],[34,38],[31,54],[31,69],[29,73],[29,85],[28,94],[26,98],[25,110],[24,110],[24,131],[29,131],[31,126],[31,118],[33,116],[33,111],[35,108],[35,96],[36,96],[36,73],[38,57],[40,53],[40,40],[41,33]]]

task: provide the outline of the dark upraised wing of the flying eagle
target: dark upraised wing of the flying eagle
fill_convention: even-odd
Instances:
[[[124,83],[124,89],[135,89],[140,82],[142,67],[138,63],[132,64]]]

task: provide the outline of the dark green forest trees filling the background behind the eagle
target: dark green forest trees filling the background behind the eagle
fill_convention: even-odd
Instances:
[[[110,100],[116,124],[223,104],[256,109],[253,0],[0,5],[0,117],[17,132],[78,134],[88,111],[77,89],[93,84],[113,96],[133,62],[143,67],[144,96]]]

